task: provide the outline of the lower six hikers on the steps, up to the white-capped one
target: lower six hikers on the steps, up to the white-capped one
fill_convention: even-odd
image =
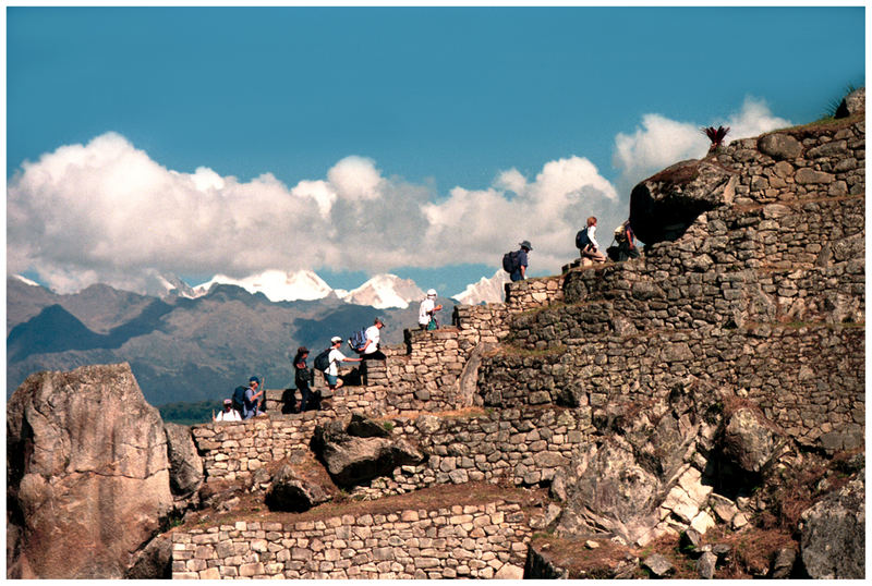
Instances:
[[[436,314],[441,310],[443,306],[436,304],[436,290],[431,289],[427,291],[426,297],[421,302],[417,323],[422,330],[435,330],[439,327]],[[330,346],[313,361],[314,368],[310,368],[306,364],[310,355],[308,349],[306,346],[298,347],[291,364],[293,364],[294,369],[294,384],[296,390],[300,391],[300,406],[296,407],[294,404],[293,411],[302,413],[319,408],[319,393],[316,394],[312,390],[312,386],[315,383],[315,370],[320,370],[327,387],[335,391],[344,384],[344,381],[339,376],[339,364],[386,359],[387,356],[382,352],[382,328],[384,327],[385,322],[377,317],[372,326],[365,330],[354,332],[347,340],[349,347],[358,354],[356,357],[349,357],[342,354],[339,350],[342,346],[342,338],[334,335],[330,339]],[[241,422],[265,415],[263,394],[264,389],[261,379],[256,376],[251,377],[247,386],[237,387],[232,399],[225,399],[223,411],[214,415],[213,420]]]

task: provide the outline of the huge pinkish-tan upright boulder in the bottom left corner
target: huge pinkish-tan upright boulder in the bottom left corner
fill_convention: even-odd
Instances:
[[[173,505],[130,365],[32,375],[7,405],[8,577],[120,578]]]

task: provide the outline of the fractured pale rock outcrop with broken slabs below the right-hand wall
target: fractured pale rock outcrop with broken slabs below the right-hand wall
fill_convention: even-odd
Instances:
[[[566,503],[558,535],[605,530],[645,545],[667,530],[704,533],[714,522],[703,453],[714,445],[718,395],[688,379],[641,413],[617,403],[600,410],[594,424],[604,441],[580,450],[552,484]]]

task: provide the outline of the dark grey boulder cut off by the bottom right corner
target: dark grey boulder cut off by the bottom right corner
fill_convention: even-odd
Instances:
[[[802,513],[802,563],[820,579],[862,579],[865,574],[865,484],[857,478]]]

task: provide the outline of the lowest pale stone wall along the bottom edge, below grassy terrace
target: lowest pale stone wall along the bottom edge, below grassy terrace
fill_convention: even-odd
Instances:
[[[518,503],[324,521],[256,522],[172,534],[177,578],[521,577],[531,530]]]

